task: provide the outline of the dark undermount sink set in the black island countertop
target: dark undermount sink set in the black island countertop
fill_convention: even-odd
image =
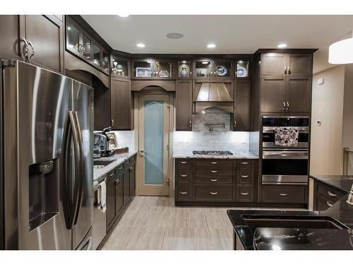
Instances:
[[[328,216],[242,216],[251,232],[256,228],[348,229]]]

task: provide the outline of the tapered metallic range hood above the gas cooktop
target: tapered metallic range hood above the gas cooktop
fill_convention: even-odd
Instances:
[[[208,107],[219,107],[232,113],[233,102],[225,83],[202,83],[195,101],[196,113],[202,112]]]

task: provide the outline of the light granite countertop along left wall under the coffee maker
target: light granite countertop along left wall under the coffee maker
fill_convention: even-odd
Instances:
[[[95,158],[95,161],[111,161],[114,162],[106,165],[102,168],[93,168],[93,186],[97,184],[101,177],[104,177],[107,172],[114,170],[115,167],[123,163],[125,160],[131,158],[131,156],[135,155],[137,151],[129,151],[128,153],[119,153],[112,156],[102,157],[102,158]]]

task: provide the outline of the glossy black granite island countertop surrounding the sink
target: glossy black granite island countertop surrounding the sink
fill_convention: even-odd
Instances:
[[[347,192],[352,187],[352,176],[311,176]],[[337,177],[337,179],[335,179]],[[335,185],[335,184],[337,185]],[[349,187],[349,189],[347,189]],[[268,211],[228,210],[234,232],[245,249],[353,249],[353,205],[347,203],[348,194],[325,211]],[[307,229],[307,228],[257,228],[256,235],[242,216],[301,216],[329,217],[338,220],[349,230]],[[266,231],[266,232],[265,232]],[[255,238],[255,240],[254,240]],[[302,240],[305,240],[305,244]],[[334,242],[336,242],[335,245]]]

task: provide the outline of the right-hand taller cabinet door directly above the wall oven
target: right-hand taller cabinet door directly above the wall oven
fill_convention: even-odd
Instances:
[[[287,77],[287,112],[311,112],[311,78]]]

